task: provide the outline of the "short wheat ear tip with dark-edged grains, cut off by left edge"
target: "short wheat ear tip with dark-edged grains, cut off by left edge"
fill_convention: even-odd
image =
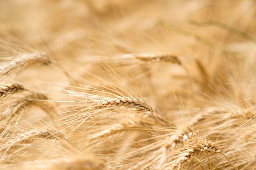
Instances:
[[[18,82],[8,81],[3,82],[0,85],[0,97],[12,94],[15,92],[20,92],[25,88]]]

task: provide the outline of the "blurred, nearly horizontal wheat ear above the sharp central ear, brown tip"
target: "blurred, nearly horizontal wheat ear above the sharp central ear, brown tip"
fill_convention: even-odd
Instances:
[[[181,61],[178,59],[177,56],[171,54],[124,54],[122,55],[123,58],[136,58],[141,61],[165,61],[170,63],[175,63],[181,65]]]

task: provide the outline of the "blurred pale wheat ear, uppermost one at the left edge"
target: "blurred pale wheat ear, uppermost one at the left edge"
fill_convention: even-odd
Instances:
[[[11,61],[2,61],[0,65],[0,74],[6,75],[17,73],[22,68],[32,65],[34,63],[49,64],[49,58],[45,52],[37,52],[31,54],[20,54],[16,57],[10,57]],[[6,57],[3,58],[6,60]]]

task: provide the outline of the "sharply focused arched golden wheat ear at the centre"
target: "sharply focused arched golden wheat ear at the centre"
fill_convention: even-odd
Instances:
[[[132,107],[139,111],[150,111],[153,113],[152,107],[148,104],[146,98],[141,100],[134,97],[119,97],[119,98],[106,98],[99,100],[95,109],[104,109],[108,107]]]

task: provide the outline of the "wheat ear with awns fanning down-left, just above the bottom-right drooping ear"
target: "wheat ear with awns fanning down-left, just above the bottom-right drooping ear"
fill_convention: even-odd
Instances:
[[[156,142],[152,144],[148,144],[143,148],[138,148],[133,153],[128,153],[128,157],[125,159],[137,159],[140,158],[139,163],[135,163],[137,161],[134,160],[134,163],[130,161],[131,164],[135,164],[135,166],[131,166],[130,170],[137,169],[162,169],[168,162],[169,157],[173,155],[173,151],[177,149],[177,146],[184,145],[191,137],[195,135],[194,131],[190,127],[185,127],[183,129],[173,130],[166,135],[160,135],[156,139]],[[164,139],[160,139],[164,137]]]

